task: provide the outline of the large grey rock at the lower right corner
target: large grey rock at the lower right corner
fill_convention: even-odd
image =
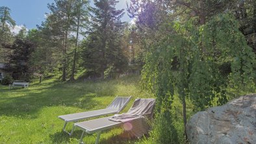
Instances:
[[[193,115],[186,124],[190,143],[256,143],[256,94]]]

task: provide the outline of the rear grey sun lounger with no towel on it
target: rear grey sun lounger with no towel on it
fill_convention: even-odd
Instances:
[[[125,108],[125,106],[128,104],[130,99],[131,99],[131,96],[130,97],[116,97],[109,104],[109,106],[107,106],[107,108],[105,108],[105,109],[92,110],[92,111],[88,111],[88,112],[80,112],[80,113],[68,114],[68,115],[60,115],[60,116],[58,116],[58,118],[65,121],[62,130],[64,132],[67,132],[71,136],[73,134],[73,130],[75,127],[73,125],[71,132],[68,132],[66,130],[66,126],[69,122],[75,123],[77,121],[89,119],[92,117],[98,117],[101,115],[118,114],[119,112],[121,112],[123,110],[123,108]]]

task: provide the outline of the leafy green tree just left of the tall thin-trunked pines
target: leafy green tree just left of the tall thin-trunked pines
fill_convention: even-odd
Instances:
[[[38,29],[29,30],[26,39],[34,43],[34,52],[31,54],[31,68],[40,77],[47,77],[58,66],[58,51],[56,43],[51,39],[47,23],[38,26]]]

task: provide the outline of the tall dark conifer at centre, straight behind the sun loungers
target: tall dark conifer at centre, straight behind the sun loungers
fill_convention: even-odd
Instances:
[[[107,75],[104,73],[107,69],[109,72],[118,71],[124,60],[120,46],[120,37],[123,34],[123,23],[120,19],[124,13],[123,9],[116,10],[116,3],[118,3],[116,0],[95,0],[96,8],[92,8],[94,17],[88,38],[92,41],[88,42],[86,47],[88,51],[86,58],[91,58],[90,61],[93,61],[94,65],[87,68],[94,69],[101,78]],[[85,61],[89,60],[85,59]]]

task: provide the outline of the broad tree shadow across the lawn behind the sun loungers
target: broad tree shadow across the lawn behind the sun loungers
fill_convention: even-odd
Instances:
[[[1,90],[0,96],[0,115],[10,115],[14,117],[36,118],[38,110],[48,106],[73,106],[90,110],[102,104],[94,100],[94,97],[105,97],[98,95],[97,90],[101,87],[99,84],[90,86],[90,84],[70,84],[70,83],[51,83],[52,86],[44,88],[47,84],[35,84],[29,89],[12,89],[8,88]],[[108,94],[113,94],[114,86],[109,86]],[[8,96],[7,96],[8,95]],[[98,108],[98,107],[97,107]]]

